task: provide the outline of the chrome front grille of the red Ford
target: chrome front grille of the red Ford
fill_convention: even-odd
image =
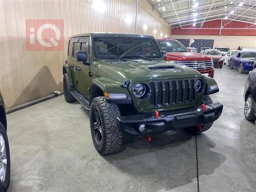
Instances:
[[[206,70],[206,69],[213,68],[213,63],[211,60],[209,61],[174,61],[174,62],[177,64],[186,65],[195,70]]]

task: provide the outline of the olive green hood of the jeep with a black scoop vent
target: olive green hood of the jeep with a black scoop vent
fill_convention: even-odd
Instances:
[[[96,73],[120,83],[126,79],[132,82],[201,77],[201,73],[190,67],[168,61],[93,61]]]

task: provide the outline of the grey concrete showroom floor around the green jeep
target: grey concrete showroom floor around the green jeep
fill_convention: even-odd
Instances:
[[[244,119],[247,74],[215,69],[223,113],[204,134],[168,132],[125,141],[118,154],[100,156],[89,114],[64,96],[7,116],[11,150],[9,191],[256,191],[256,126]],[[198,174],[196,148],[198,150]]]

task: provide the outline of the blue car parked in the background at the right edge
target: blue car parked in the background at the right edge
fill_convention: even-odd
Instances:
[[[253,70],[256,52],[241,51],[230,57],[230,69],[238,69],[239,73]]]

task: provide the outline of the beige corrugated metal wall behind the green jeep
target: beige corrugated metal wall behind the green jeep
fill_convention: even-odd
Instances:
[[[6,107],[62,90],[62,65],[67,39],[84,32],[135,33],[136,0],[105,0],[106,11],[96,12],[92,0],[1,0],[0,90]],[[130,16],[132,22],[125,22]],[[147,0],[138,1],[137,33],[170,36],[171,29]],[[26,20],[63,19],[64,51],[26,51]],[[143,30],[143,25],[148,26]],[[153,30],[157,33],[154,34]]]

